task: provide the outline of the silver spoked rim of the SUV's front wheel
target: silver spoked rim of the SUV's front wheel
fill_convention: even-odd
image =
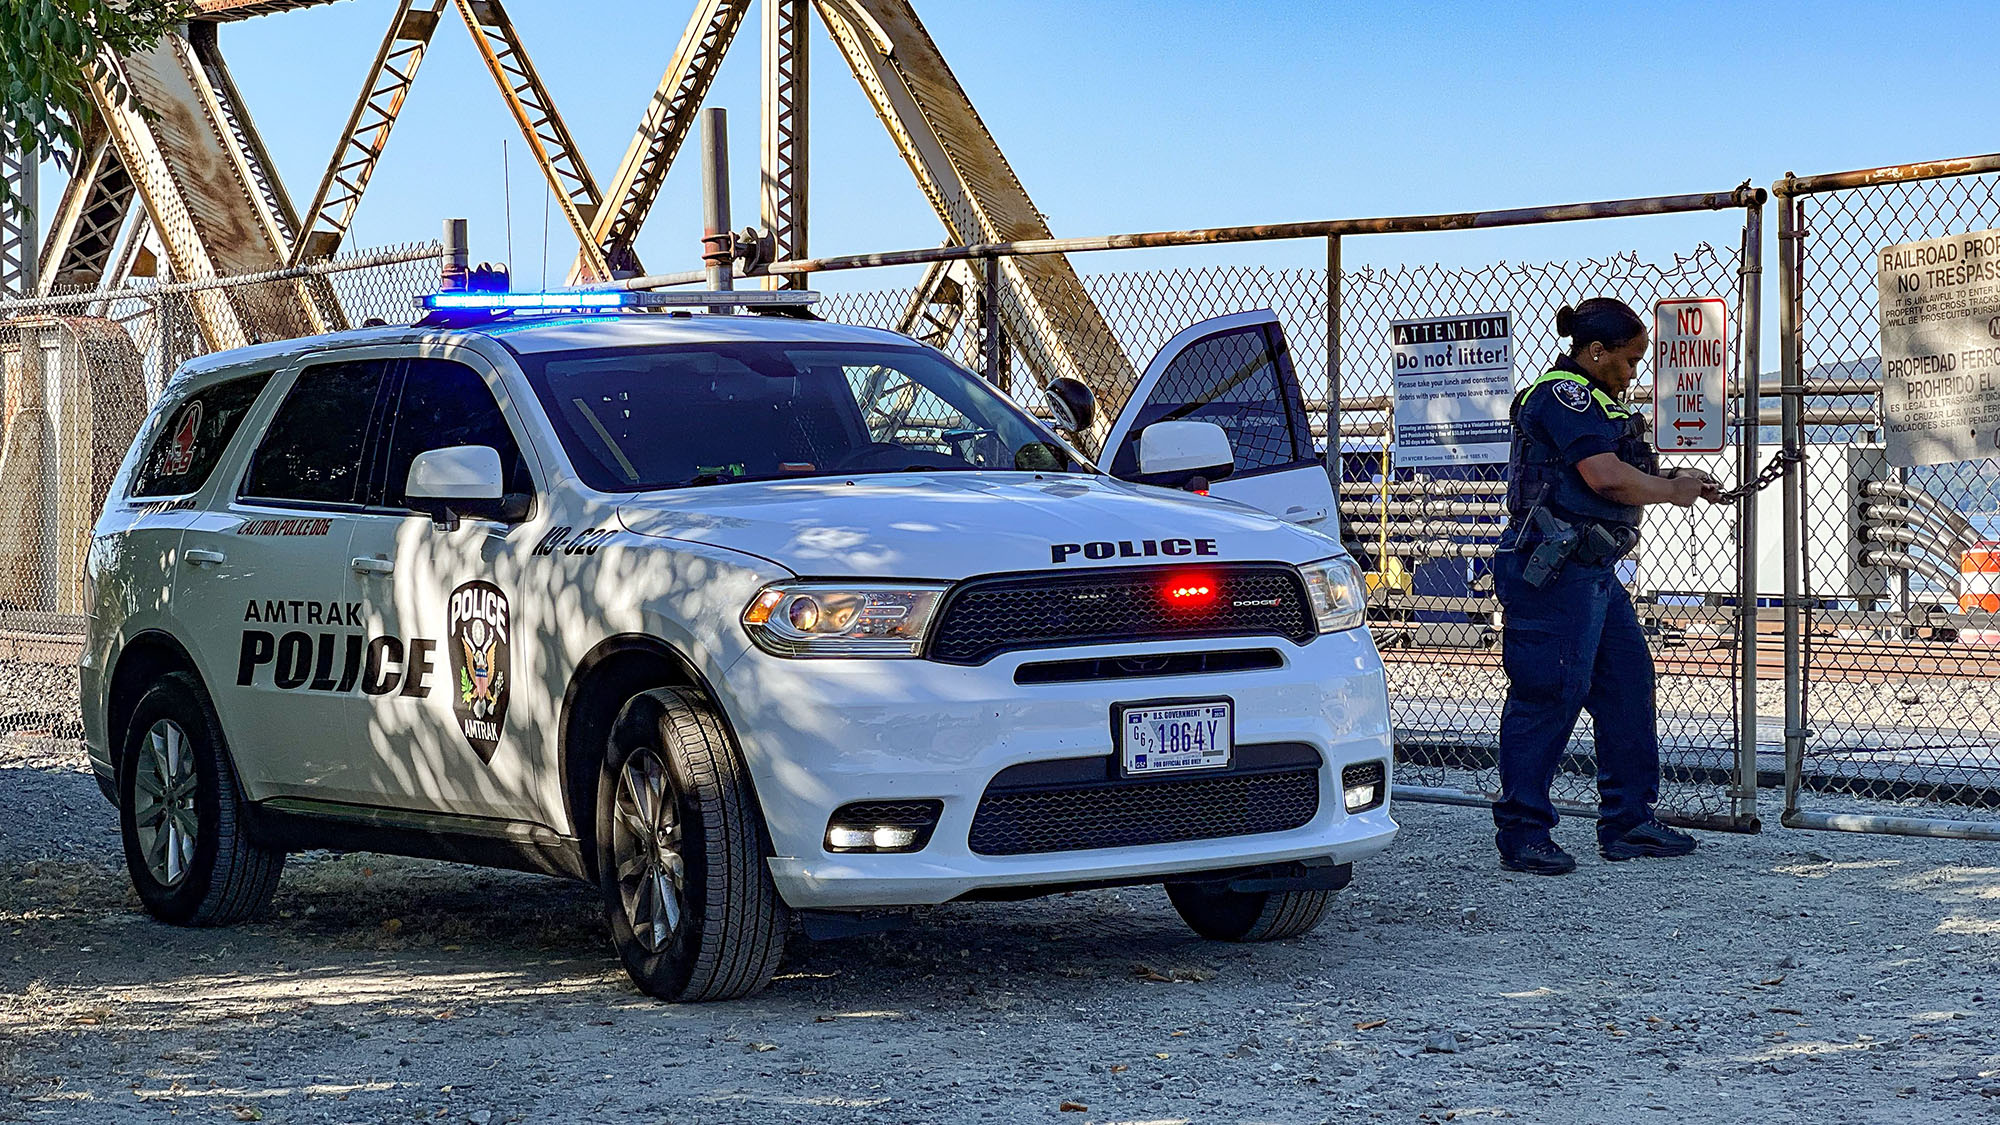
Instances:
[[[632,937],[648,953],[666,949],[686,917],[688,865],[680,853],[680,811],[666,765],[638,751],[618,771],[612,861]]]

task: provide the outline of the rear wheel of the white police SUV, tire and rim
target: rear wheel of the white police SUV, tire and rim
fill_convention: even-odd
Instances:
[[[284,853],[244,833],[222,723],[188,673],[160,677],[132,711],[118,757],[118,829],[132,885],[164,923],[252,919],[284,873]]]

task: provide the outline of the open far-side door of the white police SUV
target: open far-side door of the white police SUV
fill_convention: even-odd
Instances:
[[[1138,476],[1138,434],[1154,422],[1214,422],[1236,470],[1210,492],[1338,534],[1334,484],[1312,446],[1306,398],[1268,308],[1188,326],[1160,348],[1104,440],[1112,476]]]

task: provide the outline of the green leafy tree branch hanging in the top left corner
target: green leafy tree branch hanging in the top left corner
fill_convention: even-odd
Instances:
[[[192,0],[0,0],[4,144],[74,170],[96,116],[90,86],[100,84],[112,104],[136,104],[116,56],[152,50],[192,14]],[[12,202],[12,186],[0,180],[0,204]]]

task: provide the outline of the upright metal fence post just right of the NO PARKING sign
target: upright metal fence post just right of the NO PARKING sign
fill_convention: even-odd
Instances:
[[[1758,426],[1762,396],[1762,288],[1764,288],[1764,192],[1756,192],[1744,208],[1744,252],[1738,278],[1742,312],[1742,466],[1738,480],[1756,480],[1758,472]],[[1756,544],[1756,492],[1736,502],[1736,637],[1742,655],[1738,673],[1742,717],[1736,727],[1736,793],[1730,813],[1738,825],[1756,823],[1756,595],[1758,595],[1758,544]]]

